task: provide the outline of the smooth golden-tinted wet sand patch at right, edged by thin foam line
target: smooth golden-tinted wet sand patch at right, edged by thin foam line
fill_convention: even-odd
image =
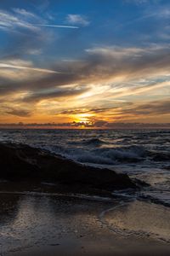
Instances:
[[[131,201],[101,213],[109,229],[123,236],[150,236],[170,242],[170,209],[154,203]]]

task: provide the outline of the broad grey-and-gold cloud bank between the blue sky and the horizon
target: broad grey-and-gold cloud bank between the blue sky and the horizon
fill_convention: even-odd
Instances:
[[[19,109],[31,107],[36,109],[34,113],[59,119],[74,115],[76,119],[78,114],[88,113],[91,125],[102,119],[127,121],[156,114],[161,117],[169,111],[167,100],[145,100],[141,104],[135,97],[168,90],[169,61],[170,47],[155,44],[146,48],[87,49],[77,61],[50,63],[49,72],[37,72],[31,61],[7,59],[2,63],[26,69],[0,68],[0,99],[8,102],[14,98]],[[127,96],[133,97],[134,102]]]

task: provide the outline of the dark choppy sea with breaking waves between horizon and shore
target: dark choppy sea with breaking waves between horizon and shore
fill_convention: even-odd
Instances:
[[[0,142],[24,143],[83,165],[127,173],[149,184],[140,198],[170,207],[170,130],[1,129]]]

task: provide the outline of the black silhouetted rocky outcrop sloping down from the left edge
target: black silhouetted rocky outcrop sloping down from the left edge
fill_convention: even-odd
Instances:
[[[0,143],[0,178],[88,186],[107,191],[136,188],[126,174],[83,166],[40,148],[14,143]]]

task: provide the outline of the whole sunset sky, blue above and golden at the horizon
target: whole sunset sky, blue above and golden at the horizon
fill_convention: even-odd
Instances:
[[[170,2],[0,1],[0,124],[170,123]]]

